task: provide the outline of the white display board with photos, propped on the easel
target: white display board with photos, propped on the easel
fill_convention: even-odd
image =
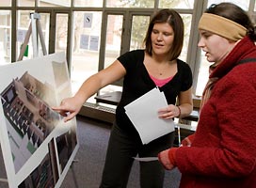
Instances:
[[[0,66],[0,80],[0,141],[8,186],[60,187],[79,148],[76,119],[65,123],[51,108],[72,96],[65,54]]]

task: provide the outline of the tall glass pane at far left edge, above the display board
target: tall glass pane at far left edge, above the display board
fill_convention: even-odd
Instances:
[[[0,65],[10,63],[10,11],[0,10]]]

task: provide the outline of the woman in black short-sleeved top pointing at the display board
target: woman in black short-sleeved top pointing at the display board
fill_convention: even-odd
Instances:
[[[144,50],[120,55],[108,68],[90,76],[72,98],[64,99],[60,106],[53,107],[66,116],[65,121],[70,120],[100,88],[123,78],[122,96],[109,138],[100,187],[126,187],[133,157],[156,157],[159,151],[171,147],[174,140],[172,132],[143,145],[136,128],[125,114],[125,105],[158,86],[168,102],[168,106],[159,109],[159,118],[178,118],[191,113],[192,73],[189,66],[178,59],[183,41],[181,16],[173,9],[159,10],[149,24]],[[158,161],[140,162],[142,188],[163,187],[164,175],[165,170]]]

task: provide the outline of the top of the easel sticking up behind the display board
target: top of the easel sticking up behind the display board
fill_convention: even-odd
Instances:
[[[28,44],[28,40],[32,34],[32,45],[33,45],[33,57],[38,57],[39,56],[39,38],[38,38],[38,34],[40,37],[40,44],[42,47],[42,53],[43,55],[47,55],[46,52],[46,46],[44,43],[44,39],[43,39],[43,35],[42,35],[42,30],[41,30],[41,26],[40,26],[40,14],[39,13],[30,13],[30,19],[31,19],[31,23],[29,24],[28,30],[25,34],[25,38],[24,38],[24,43],[22,45],[21,48],[21,53],[18,57],[18,61],[23,60],[24,57],[24,52],[26,49],[26,46]]]

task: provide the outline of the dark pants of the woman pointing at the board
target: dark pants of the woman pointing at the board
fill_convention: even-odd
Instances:
[[[125,188],[131,172],[134,158],[156,157],[157,154],[172,146],[174,132],[161,136],[147,145],[139,138],[131,139],[114,123],[105,157],[103,178],[100,188]],[[165,169],[158,161],[140,162],[141,188],[162,188]]]

